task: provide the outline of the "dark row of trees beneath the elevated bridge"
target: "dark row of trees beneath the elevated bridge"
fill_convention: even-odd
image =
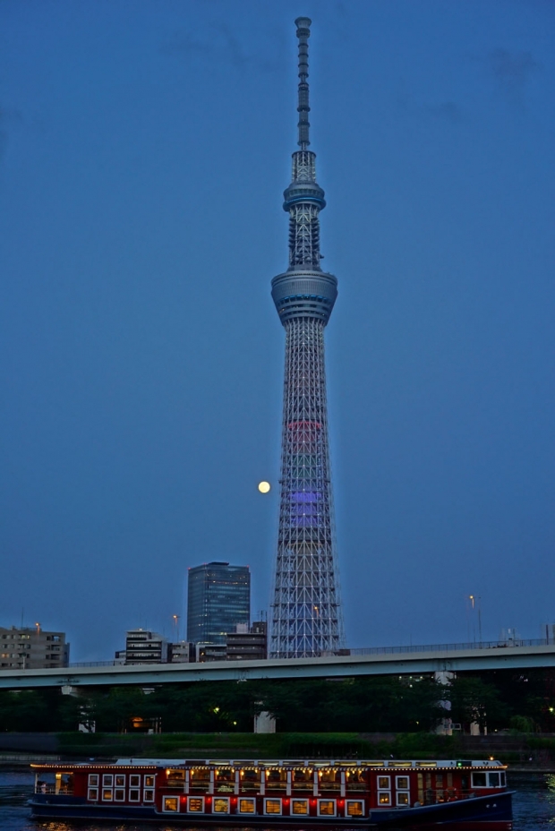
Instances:
[[[252,732],[261,710],[279,732],[427,732],[451,702],[455,722],[516,724],[555,731],[555,672],[465,673],[442,687],[431,676],[366,676],[341,680],[199,681],[140,688],[115,687],[64,696],[59,690],[0,692],[1,731],[132,732],[133,719],[157,719],[168,732]],[[524,719],[524,720],[523,720]],[[136,724],[136,722],[135,722]]]

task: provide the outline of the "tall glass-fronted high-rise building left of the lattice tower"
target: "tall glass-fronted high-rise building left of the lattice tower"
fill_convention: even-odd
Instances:
[[[251,622],[251,572],[248,566],[206,562],[189,569],[187,640],[225,644],[237,623]]]

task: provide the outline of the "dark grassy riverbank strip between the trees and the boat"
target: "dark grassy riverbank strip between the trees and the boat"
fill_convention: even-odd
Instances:
[[[438,736],[414,733],[2,732],[3,759],[499,758],[522,772],[555,772],[555,734]]]

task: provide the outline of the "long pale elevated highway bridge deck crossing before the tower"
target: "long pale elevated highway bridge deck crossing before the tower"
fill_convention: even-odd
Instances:
[[[351,678],[357,675],[424,675],[555,667],[555,643],[443,644],[426,647],[352,649],[349,655],[206,664],[73,664],[64,669],[0,670],[0,689],[39,687],[152,687],[192,681]]]

